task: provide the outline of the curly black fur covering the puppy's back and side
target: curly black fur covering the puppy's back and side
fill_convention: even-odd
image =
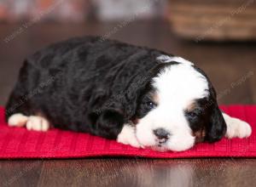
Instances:
[[[138,104],[152,77],[176,64],[158,62],[160,54],[166,53],[100,37],[51,45],[25,60],[6,119],[43,114],[55,127],[116,139],[124,123],[147,113]]]

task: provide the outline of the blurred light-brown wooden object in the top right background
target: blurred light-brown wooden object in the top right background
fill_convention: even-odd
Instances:
[[[170,0],[168,19],[196,42],[256,40],[256,0]]]

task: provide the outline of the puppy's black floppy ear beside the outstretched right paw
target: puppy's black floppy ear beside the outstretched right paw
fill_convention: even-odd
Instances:
[[[207,124],[207,134],[205,138],[205,140],[210,143],[221,139],[227,129],[227,125],[224,121],[224,117],[222,116],[222,112],[218,108],[217,102],[212,105],[212,114],[210,116],[210,122]]]

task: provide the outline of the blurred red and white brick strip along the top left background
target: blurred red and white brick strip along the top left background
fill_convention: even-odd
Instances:
[[[43,20],[82,22],[124,20],[137,14],[148,18],[163,14],[166,0],[2,0],[0,20],[15,22],[44,14]]]

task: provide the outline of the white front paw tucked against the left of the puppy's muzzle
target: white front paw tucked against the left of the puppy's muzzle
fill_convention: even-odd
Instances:
[[[137,137],[135,134],[135,127],[131,123],[126,123],[117,137],[117,142],[121,144],[130,144],[133,147],[143,147],[137,141]]]

